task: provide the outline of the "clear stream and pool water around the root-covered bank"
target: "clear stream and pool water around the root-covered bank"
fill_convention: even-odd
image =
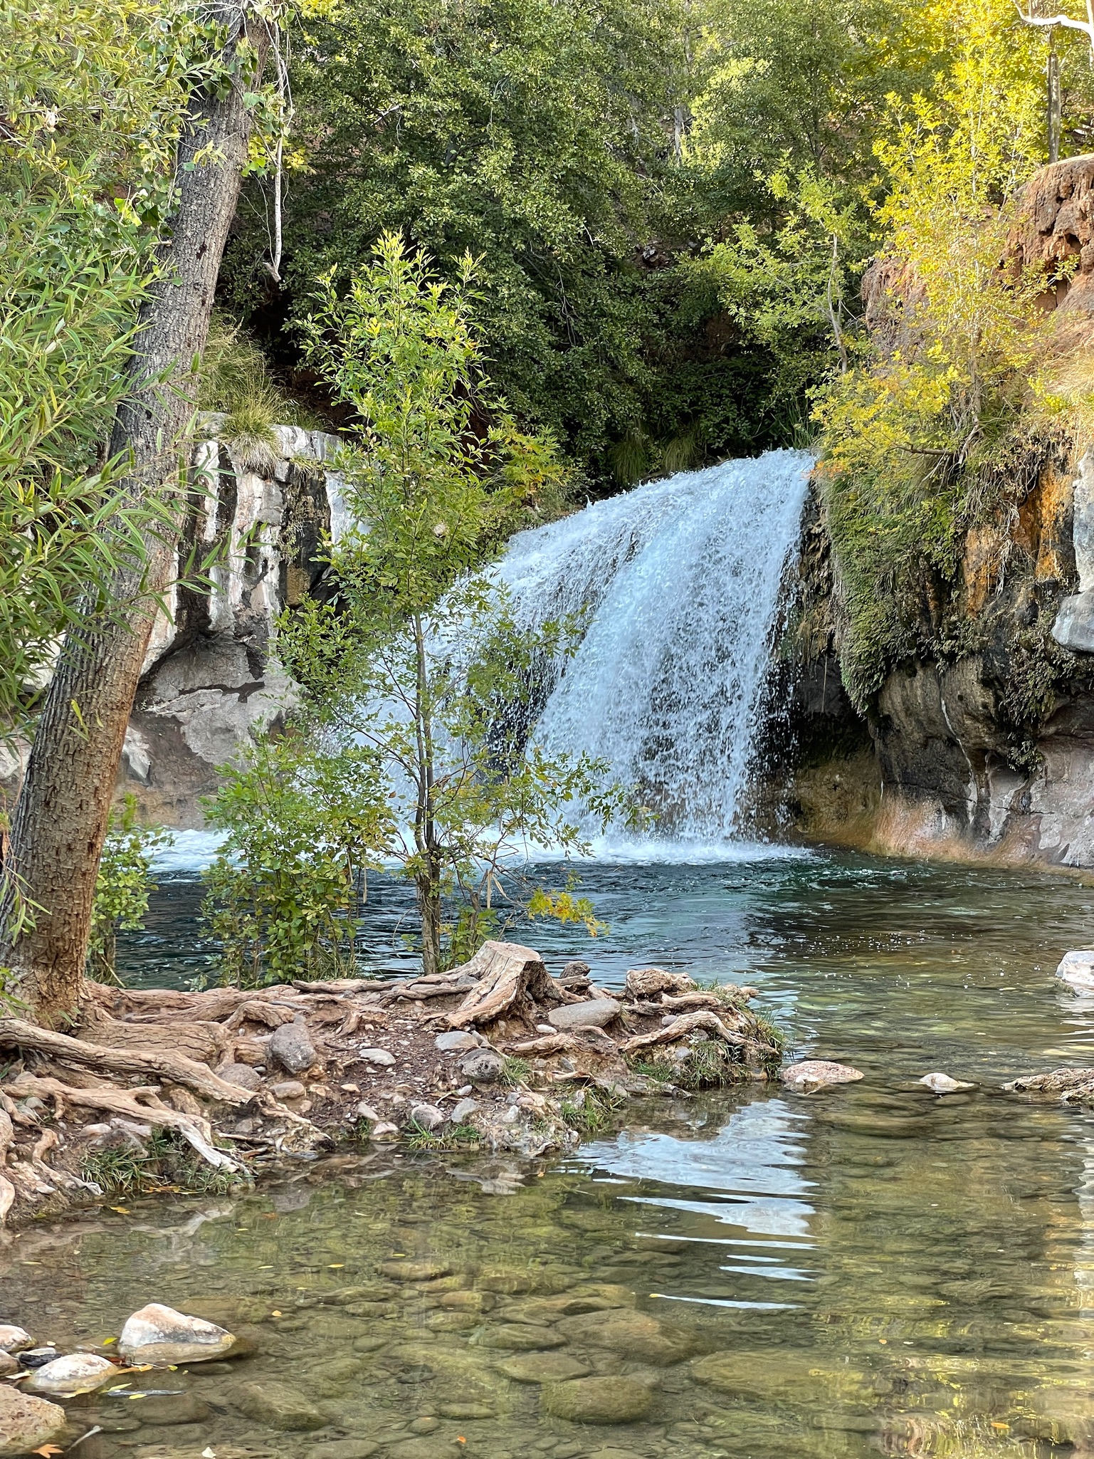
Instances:
[[[556,970],[579,951],[607,982],[637,961],[747,979],[789,1052],[853,1062],[862,1083],[635,1104],[624,1134],[531,1167],[362,1150],[238,1199],[35,1226],[0,1247],[0,1317],[95,1342],[160,1300],[255,1344],[134,1376],[178,1393],[73,1406],[109,1430],[74,1452],[1094,1452],[1094,1113],[999,1090],[1020,1071],[1094,1065],[1094,1004],[1052,978],[1091,941],[1094,891],[747,851],[592,865],[583,889],[611,925],[602,940],[521,934]],[[400,899],[389,886],[372,902],[378,967],[398,960]],[[165,886],[127,945],[133,973],[187,970],[194,902],[185,878]],[[916,1084],[932,1069],[976,1088],[936,1097]],[[630,1377],[645,1411],[611,1427],[557,1417],[528,1382],[553,1371]],[[274,1380],[322,1427],[276,1428],[270,1390],[248,1386]]]

